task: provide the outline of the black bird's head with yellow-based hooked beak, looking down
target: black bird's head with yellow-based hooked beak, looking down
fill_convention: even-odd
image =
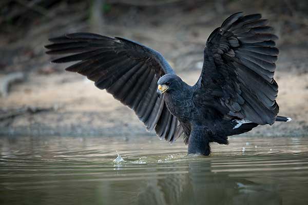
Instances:
[[[159,78],[157,84],[157,96],[160,97],[163,93],[169,93],[181,88],[182,79],[175,74],[166,74]]]

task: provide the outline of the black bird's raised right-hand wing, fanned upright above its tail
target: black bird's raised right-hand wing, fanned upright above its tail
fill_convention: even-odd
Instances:
[[[260,14],[229,16],[208,37],[196,84],[204,100],[223,114],[260,125],[273,124],[279,112],[274,80],[278,38]]]

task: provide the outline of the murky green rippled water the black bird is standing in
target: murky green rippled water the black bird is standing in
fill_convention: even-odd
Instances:
[[[0,204],[308,204],[308,138],[0,137]],[[113,161],[119,153],[125,161]]]

